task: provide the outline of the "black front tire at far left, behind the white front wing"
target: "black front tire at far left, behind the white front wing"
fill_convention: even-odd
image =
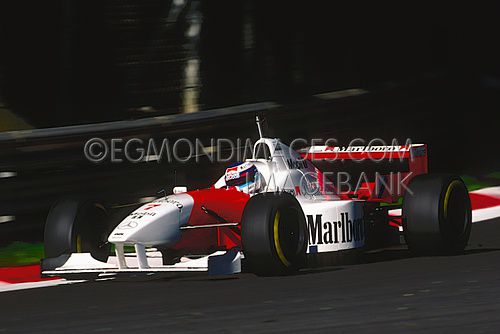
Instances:
[[[91,253],[106,262],[111,250],[107,213],[95,201],[63,199],[50,209],[45,223],[45,257],[63,254]]]

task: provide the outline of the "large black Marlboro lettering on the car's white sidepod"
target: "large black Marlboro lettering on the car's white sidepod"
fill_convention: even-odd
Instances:
[[[322,222],[321,214],[307,215],[307,226],[309,228],[309,245],[338,244],[360,241],[365,238],[363,219],[351,221],[349,214],[341,213],[341,220],[334,222]]]

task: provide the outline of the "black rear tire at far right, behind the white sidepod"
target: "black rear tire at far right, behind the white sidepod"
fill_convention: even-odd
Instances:
[[[469,193],[454,175],[415,177],[403,202],[403,230],[415,255],[463,252],[472,227]]]

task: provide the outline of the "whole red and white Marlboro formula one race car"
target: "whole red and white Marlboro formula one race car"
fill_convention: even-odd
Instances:
[[[375,173],[363,169],[365,160]],[[342,168],[360,176],[357,187],[332,181]],[[424,144],[295,151],[262,135],[252,159],[227,168],[212,187],[176,187],[110,233],[105,217],[92,201],[56,203],[45,227],[42,274],[223,275],[243,264],[258,275],[283,275],[394,240],[416,255],[461,252],[472,222],[464,183],[428,174]]]

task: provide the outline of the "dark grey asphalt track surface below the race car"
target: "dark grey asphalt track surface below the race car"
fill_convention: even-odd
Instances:
[[[365,263],[290,277],[181,277],[5,292],[0,333],[500,331],[500,219],[476,223],[466,254]]]

